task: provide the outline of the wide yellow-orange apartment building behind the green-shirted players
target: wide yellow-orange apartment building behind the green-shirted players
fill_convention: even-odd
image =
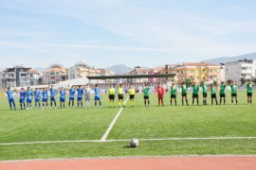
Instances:
[[[194,82],[219,82],[221,80],[220,70],[220,65],[205,62],[184,62],[174,68],[174,71],[178,74],[177,79],[179,83],[188,78]]]

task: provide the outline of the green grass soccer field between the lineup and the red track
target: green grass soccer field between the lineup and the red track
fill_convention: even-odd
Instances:
[[[145,108],[137,94],[136,107],[130,108],[128,101],[123,110],[108,108],[106,96],[102,107],[92,102],[90,109],[64,110],[9,110],[7,99],[0,99],[0,160],[255,155],[256,104],[247,105],[246,93],[239,92],[239,104],[230,105],[227,95],[226,106],[182,107],[178,94],[174,107],[166,93],[165,107],[157,107],[152,93],[151,107]],[[137,148],[128,147],[132,138],[140,141]]]

